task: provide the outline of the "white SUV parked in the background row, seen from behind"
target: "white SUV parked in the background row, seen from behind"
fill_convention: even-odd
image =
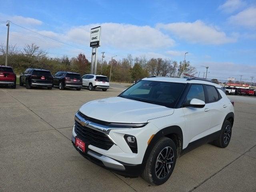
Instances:
[[[90,91],[94,89],[102,89],[106,91],[109,88],[108,77],[103,75],[86,74],[82,76],[83,87],[89,88]]]

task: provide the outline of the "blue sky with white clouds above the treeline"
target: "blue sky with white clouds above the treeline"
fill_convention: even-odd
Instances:
[[[50,53],[90,60],[90,28],[102,26],[106,60],[132,54],[147,58],[186,59],[203,74],[222,80],[232,76],[256,79],[255,0],[158,1],[28,1],[0,0],[0,22],[11,20],[10,44],[22,48],[32,42]],[[79,48],[60,44],[16,26],[34,30]],[[6,26],[0,24],[0,44]],[[60,55],[57,55],[60,54]]]

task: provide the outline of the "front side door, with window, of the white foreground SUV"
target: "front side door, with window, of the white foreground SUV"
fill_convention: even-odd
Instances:
[[[206,102],[206,94],[202,84],[191,84],[184,104],[190,104],[192,99],[199,99]],[[203,108],[183,107],[185,129],[188,132],[188,143],[203,138],[209,129],[211,115],[207,104]],[[205,138],[207,140],[207,138]],[[202,141],[204,142],[204,141]]]

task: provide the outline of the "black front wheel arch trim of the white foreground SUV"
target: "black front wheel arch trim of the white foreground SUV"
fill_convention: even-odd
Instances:
[[[147,147],[146,152],[145,152],[144,157],[143,157],[142,164],[144,164],[144,165],[146,164],[146,162],[148,160],[148,157],[150,155],[150,152],[152,151],[152,149],[154,148],[156,143],[162,137],[167,137],[167,138],[170,138],[174,141],[174,143],[176,145],[176,148],[177,148],[177,157],[179,157],[180,152],[182,151],[182,147],[183,147],[182,129],[179,126],[169,126],[169,127],[161,129],[160,131],[158,131],[154,135],[154,137],[152,138],[152,140],[148,144],[148,147]]]

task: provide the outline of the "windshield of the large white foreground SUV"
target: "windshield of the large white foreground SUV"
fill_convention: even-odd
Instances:
[[[119,96],[173,108],[186,84],[141,80]]]

